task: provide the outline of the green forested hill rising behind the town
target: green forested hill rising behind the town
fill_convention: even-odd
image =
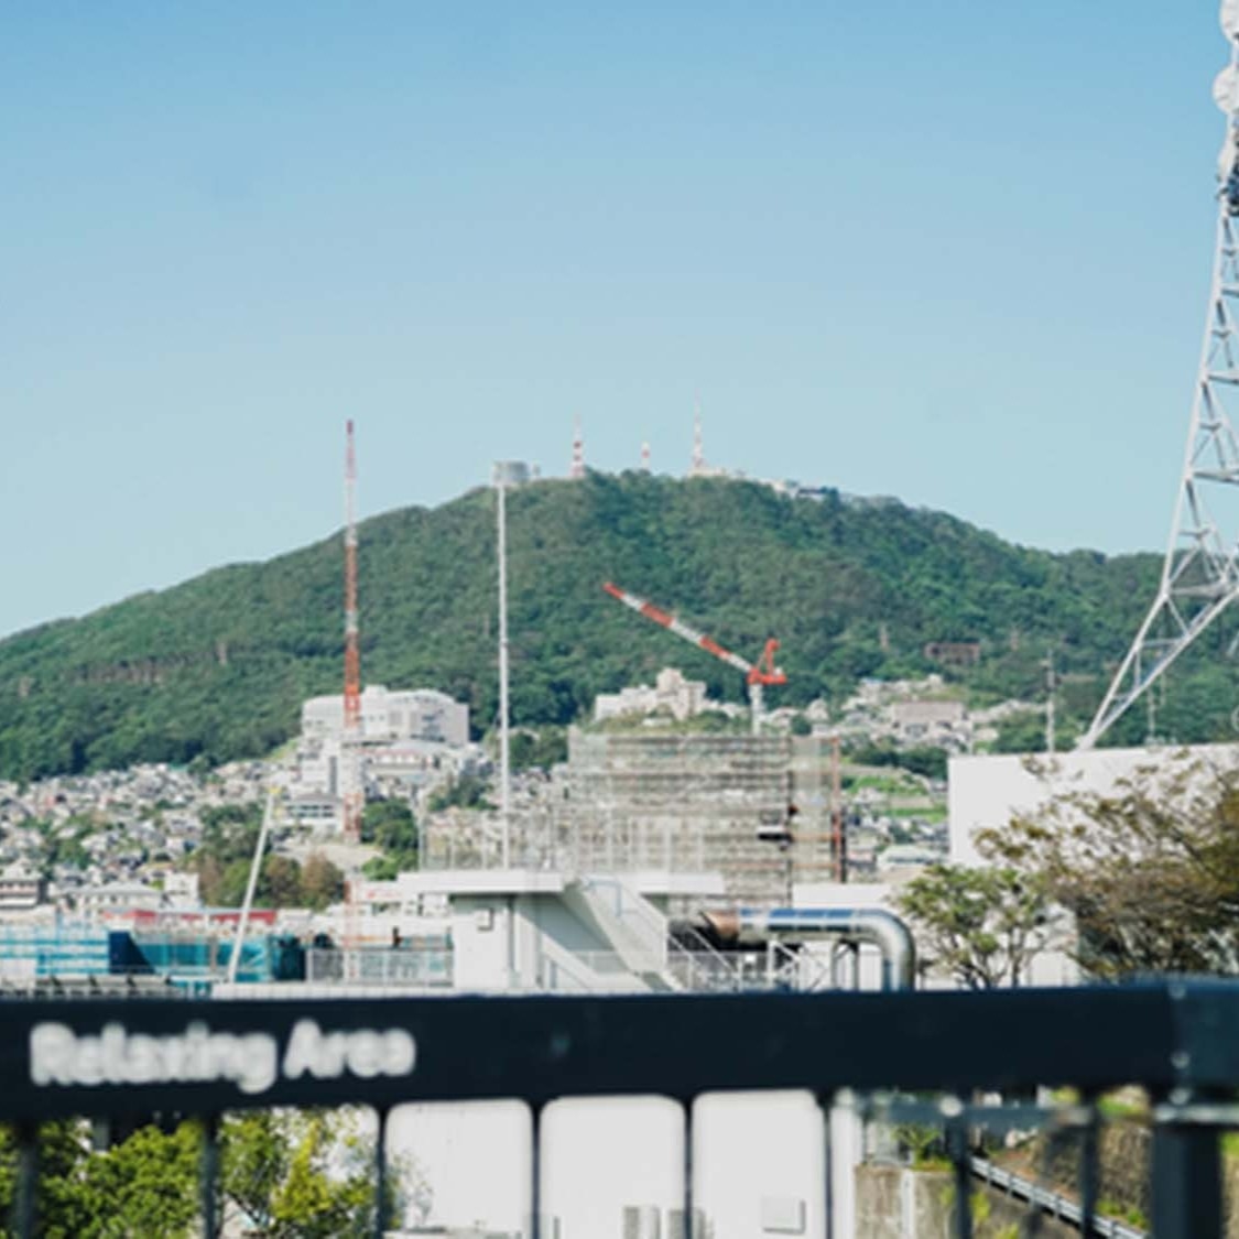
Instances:
[[[361,527],[367,683],[435,686],[494,715],[494,499],[476,491]],[[740,676],[618,606],[613,579],[750,657],[783,643],[772,705],[861,675],[940,669],[933,641],[979,641],[948,670],[976,694],[1036,695],[1049,644],[1083,716],[1142,617],[1151,555],[1051,555],[897,503],[787,499],[750,483],[592,475],[509,496],[514,722],[564,722],[668,663],[740,699]],[[259,755],[302,698],[341,679],[339,539],[223,567],[0,642],[0,773]],[[882,632],[885,628],[885,648]],[[1160,715],[1180,740],[1228,731],[1239,675],[1219,633],[1176,669]],[[1144,717],[1126,732],[1144,733]]]

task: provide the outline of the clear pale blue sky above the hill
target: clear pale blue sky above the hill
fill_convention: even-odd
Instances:
[[[515,457],[1165,544],[1212,0],[0,6],[0,632]]]

